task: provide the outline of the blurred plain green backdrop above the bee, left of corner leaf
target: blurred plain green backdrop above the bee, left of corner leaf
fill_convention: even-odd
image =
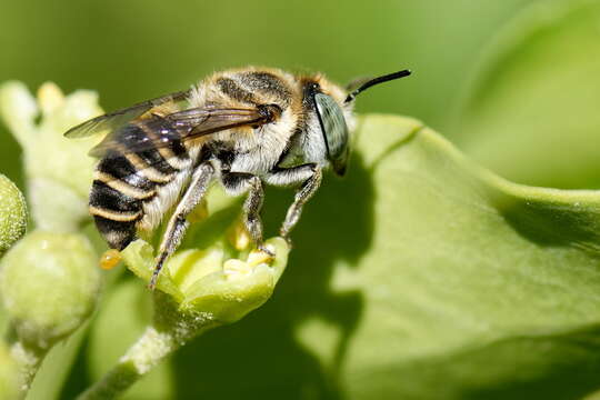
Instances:
[[[476,60],[532,2],[2,1],[0,81],[94,89],[111,110],[246,64],[341,83],[410,68],[413,77],[363,96],[358,110],[413,116],[447,133]],[[19,149],[3,127],[0,138],[0,171],[22,183]]]

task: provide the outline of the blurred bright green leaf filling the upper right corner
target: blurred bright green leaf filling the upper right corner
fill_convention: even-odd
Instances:
[[[453,138],[513,181],[600,188],[600,2],[541,1],[498,38]]]

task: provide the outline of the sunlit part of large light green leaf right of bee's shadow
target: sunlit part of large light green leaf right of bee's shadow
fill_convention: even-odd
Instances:
[[[324,368],[353,399],[558,399],[594,388],[600,192],[510,183],[428,129],[410,137],[413,124],[363,122],[374,231],[360,262],[334,266],[333,292],[353,288],[362,308],[339,370],[321,354]],[[374,134],[403,144],[381,159]],[[311,326],[327,322],[300,324],[308,348],[319,340]]]

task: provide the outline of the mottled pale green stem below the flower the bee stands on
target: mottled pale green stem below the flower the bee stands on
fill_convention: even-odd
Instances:
[[[114,399],[167,356],[200,333],[220,323],[196,313],[180,312],[168,294],[154,293],[154,322],[129,348],[101,380],[88,388],[78,400]]]

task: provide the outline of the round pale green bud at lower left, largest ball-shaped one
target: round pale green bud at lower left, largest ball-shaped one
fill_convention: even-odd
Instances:
[[[82,234],[33,231],[0,261],[4,308],[20,340],[39,349],[81,326],[99,287],[97,256]]]

